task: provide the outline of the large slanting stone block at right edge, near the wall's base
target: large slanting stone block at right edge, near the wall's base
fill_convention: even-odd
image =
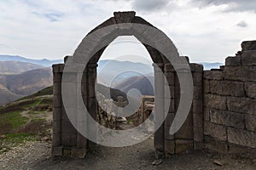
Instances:
[[[228,127],[228,141],[232,144],[256,148],[256,133]]]

